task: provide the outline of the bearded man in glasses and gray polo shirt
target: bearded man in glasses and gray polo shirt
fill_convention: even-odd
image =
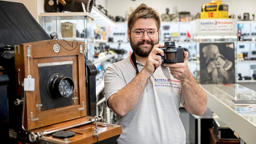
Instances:
[[[187,52],[184,63],[161,66],[159,36],[158,13],[139,5],[128,19],[133,53],[106,69],[106,102],[123,126],[119,144],[185,144],[180,103],[195,115],[206,110],[207,97],[189,72]]]

